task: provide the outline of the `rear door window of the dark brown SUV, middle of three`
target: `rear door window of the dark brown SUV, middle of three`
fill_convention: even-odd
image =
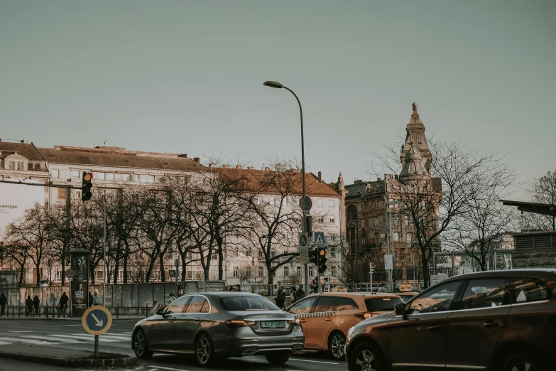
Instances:
[[[506,279],[471,279],[464,291],[459,309],[491,308],[506,306],[510,296],[506,290]]]

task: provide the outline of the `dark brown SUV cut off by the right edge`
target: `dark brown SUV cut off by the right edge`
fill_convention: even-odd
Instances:
[[[556,269],[454,276],[349,329],[350,371],[556,370]]]

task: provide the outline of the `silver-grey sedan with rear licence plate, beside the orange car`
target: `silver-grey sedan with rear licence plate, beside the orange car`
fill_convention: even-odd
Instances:
[[[257,294],[211,292],[181,296],[136,323],[131,346],[138,358],[155,352],[195,354],[197,364],[264,355],[273,365],[303,350],[300,321]]]

